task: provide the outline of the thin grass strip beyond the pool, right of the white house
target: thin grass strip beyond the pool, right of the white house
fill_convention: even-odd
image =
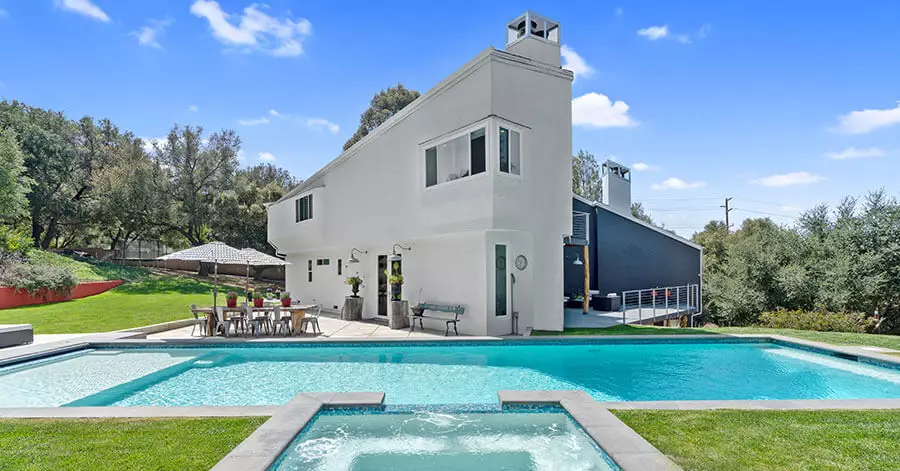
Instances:
[[[536,331],[532,335],[684,335],[684,334],[770,334],[785,335],[832,345],[866,345],[900,350],[900,336],[857,334],[850,332],[817,332],[813,330],[768,329],[764,327],[712,327],[679,329],[674,327],[652,327],[618,325],[604,329],[576,328],[563,332]]]

